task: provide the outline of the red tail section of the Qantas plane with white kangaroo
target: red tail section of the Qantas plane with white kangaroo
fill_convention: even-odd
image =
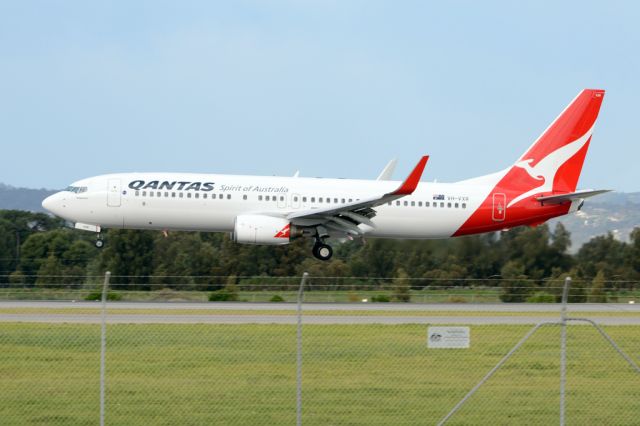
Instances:
[[[566,214],[571,206],[566,199],[564,204],[549,203],[541,209],[538,198],[557,201],[556,195],[575,192],[603,97],[604,90],[583,90],[506,171],[454,235],[538,224]]]

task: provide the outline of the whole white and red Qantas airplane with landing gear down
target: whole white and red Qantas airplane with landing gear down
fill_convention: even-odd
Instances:
[[[192,173],[118,173],[74,182],[42,202],[74,228],[229,232],[241,244],[449,238],[537,226],[607,190],[576,190],[604,90],[585,89],[509,167],[455,183],[420,182],[428,156],[393,181]]]

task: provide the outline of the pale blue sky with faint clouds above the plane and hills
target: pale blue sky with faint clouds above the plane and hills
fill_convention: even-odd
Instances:
[[[112,172],[424,181],[512,164],[607,94],[580,188],[640,191],[640,3],[3,1],[0,182]]]

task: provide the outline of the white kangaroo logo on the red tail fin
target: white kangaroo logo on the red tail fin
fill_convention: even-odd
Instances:
[[[521,160],[514,164],[514,167],[524,169],[529,174],[529,176],[531,176],[535,180],[542,181],[542,183],[539,186],[525,192],[524,194],[520,194],[519,196],[511,200],[507,205],[507,208],[511,207],[520,200],[530,197],[533,194],[552,191],[553,181],[556,178],[558,169],[560,169],[560,166],[569,161],[574,155],[578,153],[578,151],[582,149],[583,146],[585,146],[585,144],[591,137],[592,131],[593,127],[575,141],[570,142],[551,152],[533,167],[531,166],[531,163],[533,163],[534,161],[533,158]]]

